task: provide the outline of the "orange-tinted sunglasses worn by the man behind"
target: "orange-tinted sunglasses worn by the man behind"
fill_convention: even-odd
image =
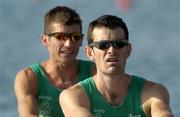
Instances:
[[[83,34],[81,33],[62,33],[62,32],[55,32],[47,34],[48,36],[54,36],[59,41],[65,41],[67,39],[71,39],[72,42],[77,42],[83,39]]]

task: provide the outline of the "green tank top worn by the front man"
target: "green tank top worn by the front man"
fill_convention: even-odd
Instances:
[[[110,105],[97,90],[92,77],[80,82],[90,100],[93,117],[146,117],[141,103],[141,92],[145,79],[133,76],[128,94],[118,106]]]

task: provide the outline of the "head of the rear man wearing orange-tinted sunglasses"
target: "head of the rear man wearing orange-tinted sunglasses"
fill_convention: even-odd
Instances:
[[[82,39],[82,21],[75,10],[57,6],[45,14],[42,43],[48,48],[50,58],[72,62],[78,54]]]

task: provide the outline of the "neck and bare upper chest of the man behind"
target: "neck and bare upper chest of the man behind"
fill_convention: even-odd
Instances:
[[[78,61],[72,62],[71,65],[46,61],[43,67],[46,76],[56,87],[68,88],[76,83]]]

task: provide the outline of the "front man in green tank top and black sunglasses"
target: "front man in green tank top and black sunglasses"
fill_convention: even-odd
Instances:
[[[172,117],[162,85],[125,72],[131,53],[128,29],[116,16],[103,15],[88,28],[85,52],[97,74],[60,94],[66,117]]]

